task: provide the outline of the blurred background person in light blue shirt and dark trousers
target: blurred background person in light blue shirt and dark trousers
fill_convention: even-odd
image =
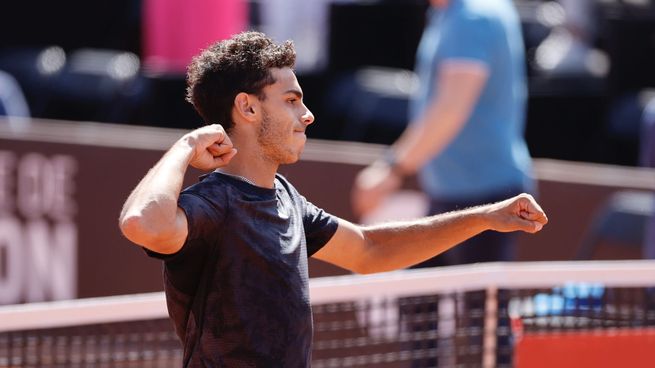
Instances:
[[[357,176],[352,202],[364,216],[417,174],[430,213],[533,191],[523,138],[524,44],[510,0],[431,0],[410,124],[385,157]],[[420,266],[514,259],[509,234],[486,232]]]

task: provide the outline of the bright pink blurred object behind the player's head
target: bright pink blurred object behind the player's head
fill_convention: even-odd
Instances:
[[[244,0],[145,0],[144,66],[151,72],[184,73],[194,55],[247,26]]]

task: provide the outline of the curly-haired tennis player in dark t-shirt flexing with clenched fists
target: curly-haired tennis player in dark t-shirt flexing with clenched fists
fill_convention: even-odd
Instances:
[[[207,123],[163,155],[127,198],[120,228],[163,260],[184,367],[309,367],[307,258],[357,273],[404,268],[485,230],[539,231],[534,199],[362,227],[314,206],[283,176],[314,116],[291,42],[245,32],[188,69],[187,99]],[[184,190],[188,166],[209,172]]]

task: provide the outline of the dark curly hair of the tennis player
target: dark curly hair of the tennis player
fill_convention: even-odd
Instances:
[[[276,44],[260,32],[243,32],[220,41],[193,58],[187,70],[186,100],[206,124],[232,129],[232,106],[240,92],[256,94],[275,83],[271,68],[293,68],[291,41]]]

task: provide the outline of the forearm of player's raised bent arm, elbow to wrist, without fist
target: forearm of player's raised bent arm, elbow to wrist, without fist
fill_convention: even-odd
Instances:
[[[175,228],[177,201],[192,154],[184,140],[177,142],[132,191],[119,220],[130,240]]]

